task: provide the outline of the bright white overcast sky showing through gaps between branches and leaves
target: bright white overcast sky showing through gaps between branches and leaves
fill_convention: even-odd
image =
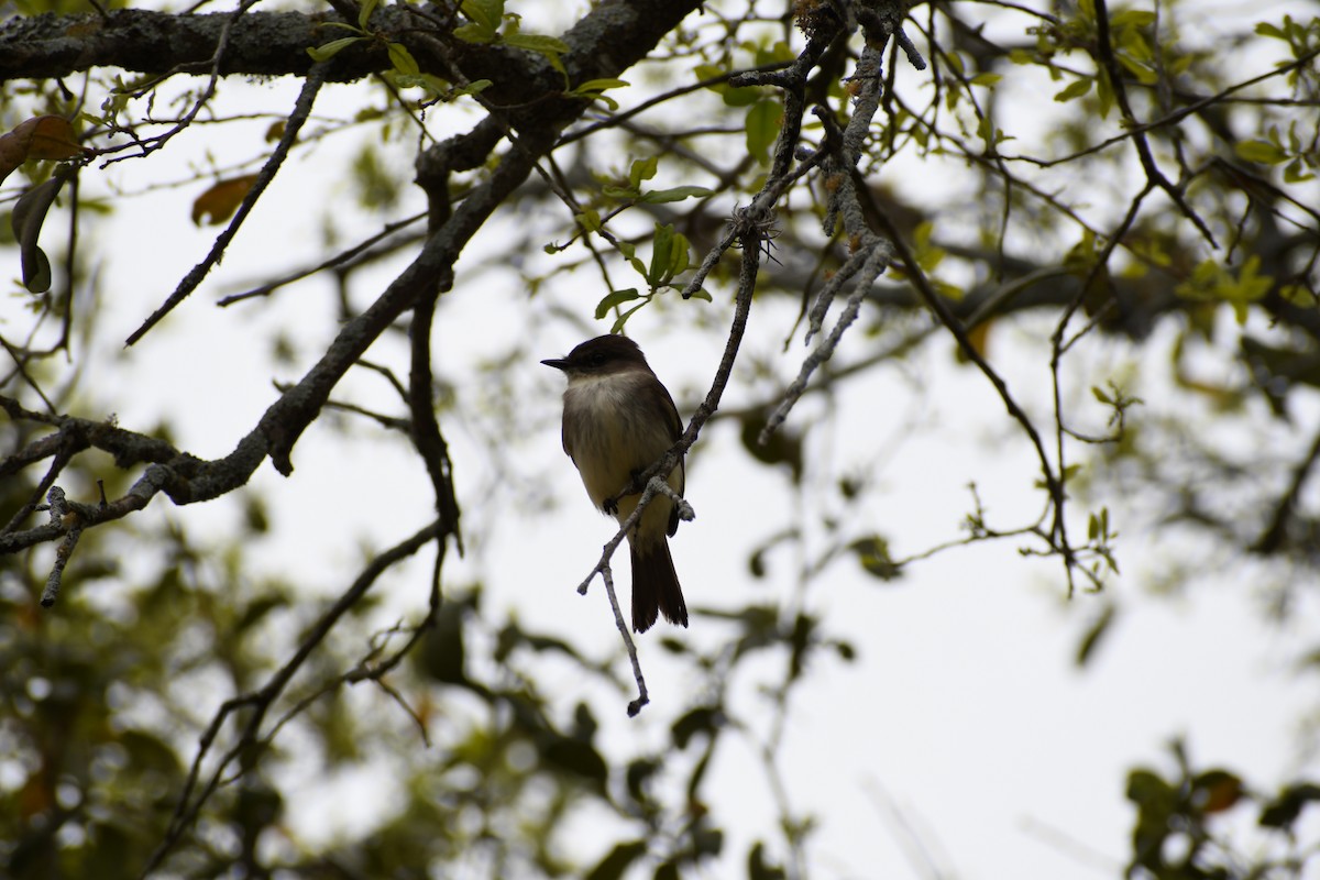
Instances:
[[[1279,17],[1290,7],[1295,15],[1302,12],[1294,3],[1224,5],[1247,9],[1253,18]],[[1243,78],[1269,61],[1255,66],[1243,61]],[[260,106],[282,113],[292,107],[296,90],[292,80],[226,83],[222,94],[232,107]],[[337,94],[339,87],[327,90],[322,100]],[[230,157],[257,154],[264,125],[253,123],[246,133],[243,127],[198,129],[149,161],[121,162],[106,173],[94,166],[83,174],[83,185],[87,191],[102,191],[104,174],[124,191],[139,193],[161,181],[185,179],[206,152],[222,165]],[[227,310],[213,303],[244,281],[263,277],[265,267],[323,259],[318,211],[327,195],[343,201],[337,223],[346,230],[346,243],[379,228],[375,218],[354,216],[356,204],[346,182],[337,178],[354,152],[352,139],[337,137],[309,158],[290,162],[222,267],[131,351],[121,350],[121,340],[210,248],[216,230],[187,220],[202,185],[116,197],[112,215],[84,218],[86,240],[108,257],[100,267],[102,313],[90,346],[75,355],[86,364],[88,389],[112,389],[121,425],[144,429],[168,417],[182,449],[222,455],[275,398],[272,379],[296,379],[310,365],[309,359],[334,331],[322,319],[330,313],[323,285],[298,285],[268,302]],[[408,150],[395,154],[408,161]],[[900,179],[895,175],[888,182]],[[411,201],[420,206],[418,198]],[[590,656],[609,656],[616,650],[618,636],[603,594],[595,587],[579,598],[574,586],[610,537],[610,521],[590,509],[562,455],[560,379],[536,363],[581,340],[581,331],[557,310],[572,309],[590,319],[603,290],[585,273],[576,280],[581,289],[552,285],[532,301],[512,270],[486,272],[479,282],[465,284],[465,267],[482,255],[499,253],[502,244],[500,228],[492,226],[465,255],[455,289],[437,315],[437,371],[471,391],[478,381],[473,359],[502,355],[511,339],[532,340],[536,358],[511,367],[520,406],[535,416],[537,429],[517,439],[516,460],[523,476],[544,480],[558,507],[553,516],[544,516],[519,509],[507,493],[491,496],[498,504],[483,503],[480,492],[494,475],[482,470],[479,420],[446,425],[459,503],[469,533],[482,534],[475,551],[487,608],[515,608],[528,628],[561,633]],[[359,278],[356,305],[368,302],[379,289],[372,284],[385,284],[392,269],[397,264]],[[13,302],[3,307],[9,313]],[[717,303],[706,309],[705,318],[726,321],[727,297],[717,296]],[[776,356],[791,322],[787,309],[758,306],[750,351]],[[689,408],[709,381],[719,351],[718,340],[697,334],[694,325],[692,313],[677,307],[663,315],[644,314],[630,325],[652,365]],[[267,358],[265,339],[277,327],[297,346],[301,360],[294,368],[272,365]],[[1041,365],[1047,332],[1047,323],[1028,319],[991,338],[997,368],[1038,413],[1045,412],[1047,402]],[[841,356],[857,356],[866,344],[854,335]],[[781,356],[783,376],[795,372],[801,351],[795,344]],[[372,351],[383,360],[392,358],[404,372],[400,354],[388,344]],[[1104,379],[1126,356],[1118,343],[1100,343],[1084,363]],[[1167,367],[1158,358],[1150,358],[1147,367],[1140,393],[1154,396],[1152,406],[1172,406],[1163,397],[1170,389],[1160,379]],[[1073,376],[1078,387],[1090,380],[1089,375]],[[388,401],[383,387],[366,376],[350,377],[337,392],[337,397],[352,396],[381,405]],[[746,387],[735,384],[726,401],[737,406],[751,398]],[[793,418],[824,416],[818,404],[807,402]],[[1300,414],[1299,438],[1308,435],[1302,429],[1311,429],[1315,417],[1315,406]],[[861,516],[870,528],[891,536],[900,554],[960,534],[958,522],[970,504],[965,487],[973,479],[1001,522],[1020,524],[1036,509],[1035,466],[1024,438],[1003,416],[989,384],[953,363],[949,344],[929,347],[903,373],[887,371],[858,383],[841,396],[830,418],[814,451],[826,456],[830,472],[847,463],[874,468],[879,488]],[[297,579],[317,595],[342,590],[345,573],[355,570],[363,546],[401,540],[425,521],[430,507],[424,480],[396,445],[364,425],[352,433],[352,439],[342,441],[313,426],[294,450],[293,479],[280,478],[265,464],[253,480],[279,529],[275,538],[255,548],[255,559],[272,571],[294,566]],[[731,427],[714,426],[692,455],[689,495],[697,520],[673,541],[690,607],[734,608],[750,598],[787,596],[800,559],[788,551],[772,554],[771,577],[752,582],[747,553],[775,528],[818,513],[821,492],[793,496],[781,475],[750,463],[737,446]],[[1220,566],[1224,574],[1205,575],[1185,599],[1150,599],[1144,584],[1158,581],[1164,566],[1206,548],[1143,529],[1150,522],[1140,517],[1148,517],[1148,511],[1126,511],[1119,501],[1111,508],[1123,532],[1119,558],[1126,577],[1109,595],[1064,600],[1059,566],[1024,561],[1011,542],[941,554],[913,566],[896,584],[871,581],[847,561],[812,584],[808,608],[859,650],[851,665],[822,656],[793,697],[783,764],[795,807],[820,819],[809,850],[816,876],[936,876],[923,862],[927,856],[948,871],[945,876],[1115,876],[1133,819],[1123,801],[1125,773],[1135,763],[1172,772],[1166,743],[1177,735],[1188,736],[1199,765],[1221,763],[1267,788],[1299,770],[1317,770],[1307,760],[1308,738],[1299,727],[1315,705],[1313,681],[1298,678],[1294,670],[1298,650],[1312,633],[1263,621],[1262,590],[1243,582],[1251,579],[1253,569],[1239,559],[1225,559],[1232,565]],[[194,534],[210,528],[223,536],[236,511],[232,500],[174,511],[157,499],[144,516],[178,517]],[[1135,528],[1129,528],[1131,517],[1137,517]],[[424,607],[424,566],[409,571],[411,582],[397,578],[391,584],[392,613]],[[454,561],[446,571],[446,579],[461,583],[474,569]],[[1080,633],[1111,599],[1125,613],[1093,665],[1078,672],[1072,656]],[[680,635],[701,645],[727,636],[721,624],[700,615]],[[590,699],[603,724],[602,748],[610,753],[628,753],[638,740],[661,745],[667,726],[694,702],[690,678],[655,646],[655,639],[648,635],[640,645],[653,705],[636,720],[624,718],[626,699],[583,694],[566,669],[546,670],[549,679],[558,679],[565,714],[577,699]],[[618,661],[622,669],[626,661],[622,656]],[[750,669],[739,683],[737,705],[754,718],[767,716],[756,708],[760,698],[754,685],[774,682],[779,674],[777,666]],[[730,739],[719,753],[708,784],[718,801],[717,822],[730,827],[726,858],[708,872],[711,877],[737,876],[747,844],[776,836],[772,802],[755,757],[750,748],[739,752],[738,741]],[[302,784],[309,793],[317,792],[312,781]],[[300,826],[293,817],[301,833],[317,838],[341,827],[362,827],[376,815],[374,810],[388,809],[389,792],[379,782],[371,788],[370,781],[351,778],[338,785],[354,797],[333,803],[317,798],[306,814],[314,821]],[[1245,835],[1253,814],[1253,809],[1238,809],[1225,817],[1222,827]],[[908,834],[920,839],[927,856],[913,854]],[[576,847],[579,858],[590,860],[603,852],[606,839],[593,840],[585,829]]]

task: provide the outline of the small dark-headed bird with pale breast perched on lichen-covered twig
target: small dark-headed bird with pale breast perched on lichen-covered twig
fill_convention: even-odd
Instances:
[[[541,363],[562,369],[569,380],[564,392],[564,451],[577,464],[591,503],[614,513],[622,524],[642,496],[615,496],[660,460],[682,434],[678,409],[647,365],[638,343],[627,336],[597,336],[568,358]],[[668,482],[682,495],[682,459]],[[667,537],[677,528],[675,503],[656,495],[628,532],[634,632],[649,629],[657,613],[664,613],[669,623],[688,625],[688,606],[682,602]]]

